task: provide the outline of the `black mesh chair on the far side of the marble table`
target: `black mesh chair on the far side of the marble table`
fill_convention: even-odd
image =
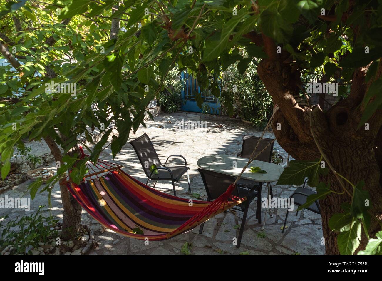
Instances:
[[[250,136],[250,135],[244,136],[243,145],[241,146],[240,157],[249,159],[253,153],[253,149],[255,149],[257,142],[259,140],[260,138],[257,136]],[[269,143],[271,144],[261,154],[259,154],[256,158],[254,158],[254,160],[264,161],[264,162],[272,161],[272,152],[273,152],[273,145],[274,145],[273,141],[274,139],[272,138],[262,138],[260,140],[259,145],[257,145],[255,155],[259,153],[260,151],[262,151],[265,148],[265,146],[269,145]],[[251,187],[253,185],[260,185],[259,182],[253,182],[251,180],[245,180],[245,179],[240,179],[238,184],[242,186],[248,186],[248,187]],[[270,196],[273,198],[272,186],[270,187]],[[259,223],[261,223],[261,216],[259,217]]]

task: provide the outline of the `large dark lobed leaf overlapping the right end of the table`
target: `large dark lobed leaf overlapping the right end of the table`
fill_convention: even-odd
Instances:
[[[302,185],[306,177],[308,177],[308,185],[315,187],[318,184],[319,174],[326,174],[327,168],[320,167],[320,161],[301,161],[292,160],[289,162],[289,167],[285,167],[280,175],[277,184],[295,184]]]

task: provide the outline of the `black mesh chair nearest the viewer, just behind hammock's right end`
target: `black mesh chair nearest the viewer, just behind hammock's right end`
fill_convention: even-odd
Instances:
[[[233,184],[233,182],[235,181],[235,178],[231,175],[220,174],[217,172],[207,171],[204,169],[197,169],[197,171],[199,171],[199,173],[202,176],[204,188],[206,188],[207,201],[213,201],[216,198],[218,198],[227,190],[230,184]],[[260,190],[260,192],[258,192],[258,190]],[[261,188],[259,188],[258,185],[253,186],[251,189],[236,185],[236,189],[232,192],[232,195],[235,195],[237,197],[247,197],[247,200],[245,202],[238,205],[240,206],[240,209],[235,207],[232,208],[232,209],[244,212],[243,219],[241,220],[239,237],[236,244],[236,247],[239,248],[241,243],[241,237],[243,236],[249,204],[251,204],[253,199],[256,197],[257,197],[256,218],[258,215],[261,216],[261,209],[260,209],[261,203],[259,203],[261,202],[260,201]],[[202,223],[200,226],[199,234],[202,234],[203,227],[204,227],[204,223]]]

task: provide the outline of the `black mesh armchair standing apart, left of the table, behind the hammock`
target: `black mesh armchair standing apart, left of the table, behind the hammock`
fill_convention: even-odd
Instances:
[[[133,146],[138,156],[139,162],[141,162],[143,170],[148,177],[146,185],[149,183],[149,180],[155,180],[155,184],[157,184],[158,180],[171,180],[172,187],[174,189],[174,195],[176,196],[174,182],[178,182],[179,179],[186,173],[188,180],[188,190],[189,192],[191,192],[190,179],[188,176],[188,170],[190,168],[187,167],[186,158],[184,158],[181,155],[170,155],[168,156],[165,164],[162,165],[162,163],[159,160],[158,154],[156,153],[155,148],[151,143],[149,136],[146,134],[139,136],[133,141],[130,141],[130,144]],[[183,160],[185,161],[185,166],[166,167],[167,161],[170,157],[183,158]],[[155,169],[150,170],[150,167],[153,164],[157,167]]]

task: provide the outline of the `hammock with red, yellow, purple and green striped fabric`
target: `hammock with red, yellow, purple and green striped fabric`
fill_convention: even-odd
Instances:
[[[213,202],[193,200],[191,205],[188,199],[142,184],[116,164],[98,160],[93,167],[88,167],[104,165],[113,167],[110,169],[113,171],[89,174],[79,185],[74,182],[67,182],[66,185],[73,197],[100,224],[135,239],[164,240],[174,237],[246,200],[231,195],[234,185],[230,185]],[[105,172],[108,174],[105,175]],[[86,180],[87,177],[90,179]]]

